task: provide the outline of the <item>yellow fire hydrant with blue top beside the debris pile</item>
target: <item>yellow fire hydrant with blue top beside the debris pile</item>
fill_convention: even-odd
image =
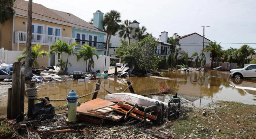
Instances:
[[[75,122],[76,119],[76,107],[80,106],[80,102],[76,102],[79,96],[76,94],[74,90],[69,92],[68,96],[66,97],[68,100],[68,103],[66,103],[64,106],[65,108],[68,108],[68,119],[66,119],[67,122]]]

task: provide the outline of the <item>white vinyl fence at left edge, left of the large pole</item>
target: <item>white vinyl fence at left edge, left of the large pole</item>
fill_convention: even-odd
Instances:
[[[12,64],[17,62],[17,57],[22,55],[22,51],[8,51],[4,50],[4,48],[0,49],[0,62],[6,64]]]

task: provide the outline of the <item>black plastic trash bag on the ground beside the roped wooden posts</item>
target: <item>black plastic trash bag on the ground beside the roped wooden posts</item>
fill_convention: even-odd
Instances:
[[[36,103],[32,110],[32,115],[35,119],[41,119],[46,116],[47,119],[54,119],[55,116],[48,117],[53,114],[55,114],[55,106],[53,106],[52,104],[44,106],[43,101]]]

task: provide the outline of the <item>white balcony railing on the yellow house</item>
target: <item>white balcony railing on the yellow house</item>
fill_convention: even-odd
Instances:
[[[59,39],[63,42],[68,43],[68,45],[75,42],[75,38],[32,33],[32,44],[51,45],[53,43],[56,43],[57,40]],[[27,43],[27,32],[22,32],[22,31],[15,32],[14,42]]]

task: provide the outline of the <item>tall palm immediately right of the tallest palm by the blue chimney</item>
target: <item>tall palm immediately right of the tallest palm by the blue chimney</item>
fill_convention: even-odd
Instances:
[[[120,32],[118,33],[121,38],[124,37],[124,39],[126,39],[126,37],[128,37],[129,45],[130,45],[130,34],[133,30],[133,27],[131,27],[130,24],[131,24],[131,20],[126,19],[124,23],[120,25]]]

